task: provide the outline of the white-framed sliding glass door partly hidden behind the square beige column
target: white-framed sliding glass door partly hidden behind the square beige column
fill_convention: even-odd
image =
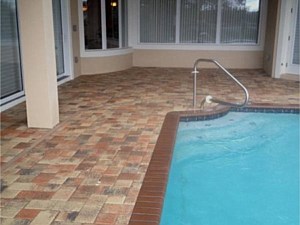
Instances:
[[[25,100],[18,27],[17,0],[0,0],[1,3],[1,111]],[[71,46],[69,1],[52,0],[55,40],[56,73],[58,84],[70,79]],[[69,79],[66,79],[69,78]]]

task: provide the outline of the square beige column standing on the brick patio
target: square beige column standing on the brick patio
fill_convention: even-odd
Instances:
[[[52,0],[18,0],[28,127],[59,123]]]

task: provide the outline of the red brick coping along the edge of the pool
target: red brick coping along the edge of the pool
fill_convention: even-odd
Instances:
[[[252,104],[249,111],[299,110],[299,105]],[[159,225],[167,188],[168,174],[172,160],[178,124],[181,118],[219,117],[231,110],[221,107],[214,111],[181,111],[170,112],[157,139],[148,170],[140,189],[129,225]],[[196,119],[195,119],[196,120]]]

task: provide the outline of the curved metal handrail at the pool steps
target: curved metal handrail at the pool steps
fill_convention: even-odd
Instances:
[[[217,65],[221,70],[223,70],[223,72],[225,72],[225,74],[227,76],[229,76],[233,81],[235,81],[235,83],[237,83],[244,91],[245,94],[245,100],[243,103],[238,104],[238,103],[230,103],[230,102],[226,102],[223,100],[219,100],[217,98],[213,98],[210,96],[209,101],[215,102],[215,103],[219,103],[222,105],[228,105],[228,106],[232,106],[232,107],[243,107],[245,105],[247,105],[248,101],[249,101],[249,93],[247,88],[238,81],[238,79],[236,79],[231,73],[229,73],[219,62],[217,62],[214,59],[197,59],[194,63],[194,69],[193,69],[193,74],[194,74],[194,90],[193,90],[193,106],[194,108],[196,107],[196,97],[197,97],[197,74],[199,73],[199,71],[197,70],[197,65],[199,62],[209,62],[209,63],[214,63],[215,65]]]

